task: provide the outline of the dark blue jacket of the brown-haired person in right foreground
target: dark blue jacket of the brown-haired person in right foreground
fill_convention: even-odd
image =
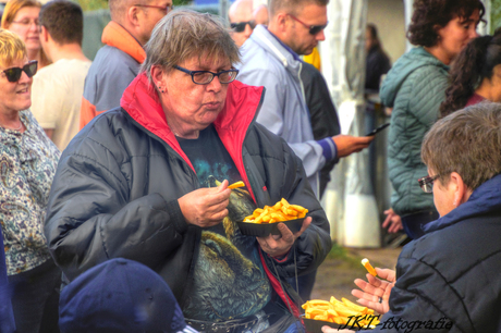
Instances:
[[[381,323],[432,321],[416,332],[501,332],[501,175],[480,185],[426,234],[407,244],[396,263],[390,311]],[[441,318],[451,330],[435,325]],[[378,326],[375,332],[405,332]]]

